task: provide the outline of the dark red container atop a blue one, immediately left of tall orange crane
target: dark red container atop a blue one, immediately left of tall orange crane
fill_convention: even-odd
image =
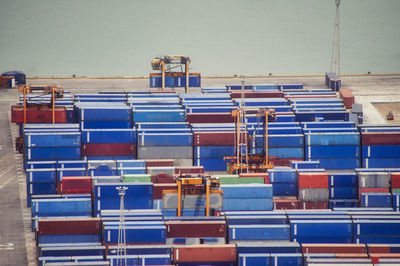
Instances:
[[[245,140],[245,135],[242,134],[242,140]],[[235,145],[235,132],[194,132],[194,146],[233,146]]]

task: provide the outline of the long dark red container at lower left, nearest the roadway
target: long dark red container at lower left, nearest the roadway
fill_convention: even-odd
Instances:
[[[101,218],[41,218],[39,235],[90,235],[101,234]]]

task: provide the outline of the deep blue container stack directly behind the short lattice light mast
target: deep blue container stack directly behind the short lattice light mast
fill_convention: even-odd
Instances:
[[[120,209],[120,186],[126,187],[125,209],[152,209],[152,183],[101,183],[94,182],[94,214],[99,215],[101,210]]]

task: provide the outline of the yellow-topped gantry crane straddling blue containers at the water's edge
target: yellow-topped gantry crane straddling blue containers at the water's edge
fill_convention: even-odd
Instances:
[[[189,88],[189,64],[190,58],[184,55],[166,55],[163,57],[156,57],[151,61],[151,67],[153,68],[153,70],[161,71],[162,90],[165,89],[165,73],[171,71],[174,68],[182,67],[182,65],[185,65],[185,92],[187,92],[187,89]]]

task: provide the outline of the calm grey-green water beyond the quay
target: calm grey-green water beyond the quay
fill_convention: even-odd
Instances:
[[[400,1],[342,0],[342,73],[400,72]],[[148,75],[164,54],[202,74],[330,69],[333,0],[0,0],[0,72]]]

